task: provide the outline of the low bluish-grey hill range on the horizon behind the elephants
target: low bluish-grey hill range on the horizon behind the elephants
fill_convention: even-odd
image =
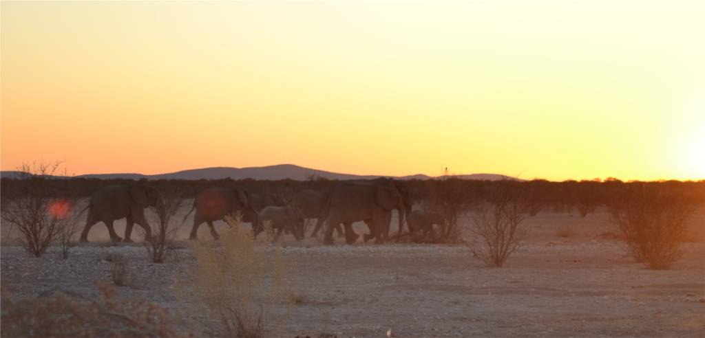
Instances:
[[[16,171],[0,172],[0,177],[16,177]],[[378,177],[386,177],[380,175],[353,175],[344,173],[333,173],[326,170],[317,170],[312,168],[304,168],[293,164],[267,165],[264,167],[213,167],[181,170],[176,173],[166,173],[157,175],[142,175],[139,173],[114,173],[114,174],[88,174],[78,175],[77,177],[99,178],[104,180],[109,179],[130,179],[140,180],[222,180],[231,178],[233,180],[307,180],[311,176],[323,177],[329,180],[372,180]],[[472,175],[455,175],[464,180],[502,180],[511,177],[495,174],[472,174]],[[423,174],[408,175],[396,177],[400,180],[428,180],[433,177]]]

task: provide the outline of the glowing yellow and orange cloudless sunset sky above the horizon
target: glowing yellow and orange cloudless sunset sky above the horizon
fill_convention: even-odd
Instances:
[[[2,170],[705,178],[705,1],[0,6]]]

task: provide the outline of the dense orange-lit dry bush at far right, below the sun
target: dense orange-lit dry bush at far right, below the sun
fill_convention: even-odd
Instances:
[[[610,220],[626,251],[650,269],[668,269],[683,253],[695,204],[684,194],[656,187],[625,188],[609,205]]]

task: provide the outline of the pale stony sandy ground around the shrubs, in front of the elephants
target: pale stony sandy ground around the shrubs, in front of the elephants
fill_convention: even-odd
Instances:
[[[181,238],[188,236],[190,219],[185,224]],[[646,270],[625,256],[619,242],[603,239],[610,230],[604,211],[587,218],[555,213],[527,218],[525,244],[505,268],[486,268],[465,246],[341,240],[322,246],[315,239],[286,237],[283,253],[300,266],[304,301],[272,335],[386,337],[391,328],[397,337],[705,337],[703,225],[700,211],[685,256],[671,270]],[[559,227],[573,234],[560,237]],[[107,239],[104,229],[96,225],[90,240]],[[356,230],[362,233],[364,225]],[[207,238],[207,227],[199,235]],[[94,297],[94,283],[110,280],[111,263],[104,261],[109,253],[129,260],[130,286],[120,288],[121,296],[183,313],[173,280],[191,262],[186,245],[168,262],[154,264],[139,244],[82,245],[68,261],[59,259],[57,248],[30,258],[6,244],[2,286],[16,297],[53,289]],[[274,307],[286,311],[286,303]],[[185,330],[218,334],[202,313],[183,315]]]

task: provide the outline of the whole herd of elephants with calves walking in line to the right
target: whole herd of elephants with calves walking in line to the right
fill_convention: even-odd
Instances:
[[[159,208],[163,204],[154,187],[143,184],[104,187],[90,199],[80,240],[87,242],[90,228],[98,222],[105,223],[114,242],[131,242],[134,223],[150,236],[144,208]],[[197,194],[191,210],[183,219],[194,210],[190,239],[197,237],[198,228],[203,223],[207,223],[212,237],[218,239],[213,222],[234,213],[238,213],[243,222],[252,223],[255,236],[264,230],[264,221],[269,221],[277,231],[277,237],[281,232],[290,232],[297,240],[305,236],[305,220],[317,218],[311,236],[316,237],[323,228],[325,244],[333,244],[334,230],[339,237],[345,237],[346,243],[354,243],[359,235],[353,230],[353,223],[360,221],[369,228],[369,233],[363,236],[364,242],[375,239],[376,243],[384,243],[389,240],[394,210],[399,215],[399,234],[403,232],[405,220],[411,234],[427,235],[430,232],[433,235],[433,224],[443,224],[438,215],[412,211],[412,198],[404,182],[386,178],[343,181],[324,191],[302,189],[286,200],[271,193],[254,194],[240,187],[213,187]],[[124,239],[118,237],[113,227],[114,221],[122,218],[127,220]]]

